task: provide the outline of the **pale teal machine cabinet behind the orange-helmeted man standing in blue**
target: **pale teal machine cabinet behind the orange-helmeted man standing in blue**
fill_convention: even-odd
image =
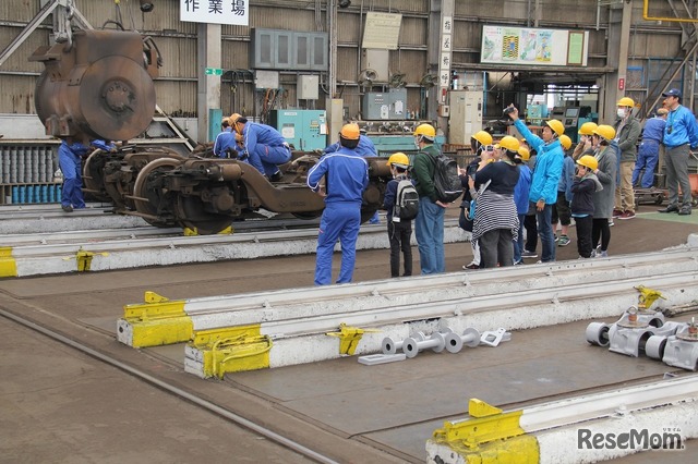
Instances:
[[[274,110],[272,126],[297,150],[322,150],[327,146],[324,110]]]

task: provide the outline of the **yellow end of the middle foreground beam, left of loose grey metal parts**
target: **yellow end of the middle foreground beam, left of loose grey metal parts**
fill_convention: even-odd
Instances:
[[[268,368],[273,342],[255,325],[201,330],[190,346],[201,354],[204,377],[222,379],[227,373]]]

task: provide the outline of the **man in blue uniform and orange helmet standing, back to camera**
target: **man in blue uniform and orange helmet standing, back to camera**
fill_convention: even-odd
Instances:
[[[369,185],[369,163],[359,156],[359,126],[346,124],[339,133],[340,148],[323,156],[308,173],[308,186],[325,197],[315,259],[315,284],[332,283],[332,255],[341,243],[341,268],[337,283],[351,282],[361,227],[363,191]],[[323,183],[324,180],[324,183]]]

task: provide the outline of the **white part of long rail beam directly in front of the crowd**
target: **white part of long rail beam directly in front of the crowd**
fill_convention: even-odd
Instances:
[[[274,314],[293,308],[296,317],[302,318],[308,310],[322,308],[324,313],[342,313],[348,307],[370,309],[398,304],[418,305],[435,303],[452,297],[474,297],[488,294],[482,285],[493,284],[496,280],[507,281],[505,292],[520,292],[542,289],[551,285],[550,278],[556,278],[553,285],[559,285],[569,276],[585,274],[587,283],[609,282],[610,278],[619,279],[622,274],[648,267],[648,274],[655,276],[657,270],[669,264],[672,270],[691,270],[698,267],[698,248],[677,248],[671,251],[645,253],[641,255],[621,255],[606,259],[559,261],[554,264],[531,265],[526,267],[506,267],[478,272],[450,272],[421,276],[414,279],[386,279],[358,282],[340,286],[314,286],[287,289],[248,294],[231,294],[191,298],[186,301],[186,312],[191,316],[215,315],[217,313],[258,310],[264,308],[266,320],[274,320]],[[524,281],[525,280],[525,281]],[[569,283],[568,283],[569,284]],[[450,289],[448,295],[446,291]],[[456,289],[454,291],[454,289]],[[467,290],[470,289],[470,290]],[[503,293],[502,289],[496,293]],[[305,310],[303,310],[305,309]],[[280,315],[279,315],[280,316]]]

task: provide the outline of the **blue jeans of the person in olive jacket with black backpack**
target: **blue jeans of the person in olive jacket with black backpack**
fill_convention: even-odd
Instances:
[[[419,213],[414,219],[414,236],[419,249],[422,274],[444,272],[444,213],[445,209],[429,197],[419,198]]]

